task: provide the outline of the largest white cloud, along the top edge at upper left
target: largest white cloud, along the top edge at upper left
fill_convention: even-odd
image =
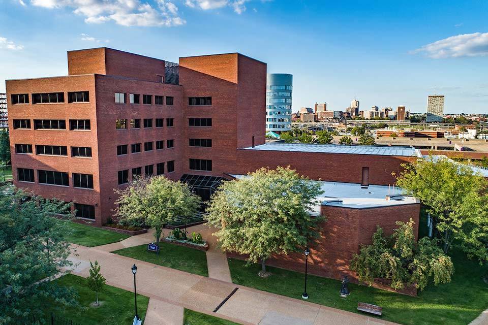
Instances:
[[[72,8],[88,24],[114,21],[123,26],[178,26],[186,21],[179,17],[178,7],[168,0],[31,0],[44,8]]]

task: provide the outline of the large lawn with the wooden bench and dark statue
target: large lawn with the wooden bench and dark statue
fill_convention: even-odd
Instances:
[[[485,268],[469,261],[461,252],[453,252],[455,274],[452,282],[430,284],[417,297],[409,297],[373,287],[349,284],[351,295],[339,297],[341,282],[318,276],[308,277],[309,301],[333,308],[357,312],[357,302],[383,307],[382,319],[402,324],[465,325],[488,308],[488,285],[482,280]],[[301,298],[304,275],[278,268],[268,268],[272,275],[260,278],[260,265],[244,266],[245,262],[229,260],[232,281],[271,293]]]

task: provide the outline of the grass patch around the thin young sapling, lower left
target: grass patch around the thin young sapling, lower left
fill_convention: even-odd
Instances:
[[[102,305],[90,307],[90,304],[95,301],[95,293],[88,289],[85,278],[67,274],[55,281],[60,285],[72,286],[75,289],[79,295],[79,306],[48,310],[46,315],[54,312],[56,316],[66,317],[80,325],[132,324],[134,319],[133,292],[105,285],[103,291],[98,295],[98,300],[102,302]],[[148,297],[137,295],[137,311],[142,319],[145,318],[148,303]]]

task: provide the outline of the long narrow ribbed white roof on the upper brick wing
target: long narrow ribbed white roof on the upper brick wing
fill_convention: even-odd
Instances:
[[[266,143],[244,148],[245,150],[297,151],[321,153],[369,154],[382,156],[421,157],[420,150],[413,147],[356,146],[338,144]]]

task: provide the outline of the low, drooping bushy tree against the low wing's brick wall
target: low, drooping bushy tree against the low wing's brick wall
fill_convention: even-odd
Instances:
[[[435,285],[450,282],[454,266],[437,240],[424,237],[415,243],[413,220],[396,224],[399,228],[389,237],[378,227],[373,243],[361,246],[359,254],[354,254],[351,269],[359,280],[372,285],[374,278],[389,279],[397,290],[405,284],[423,290],[431,279]]]

